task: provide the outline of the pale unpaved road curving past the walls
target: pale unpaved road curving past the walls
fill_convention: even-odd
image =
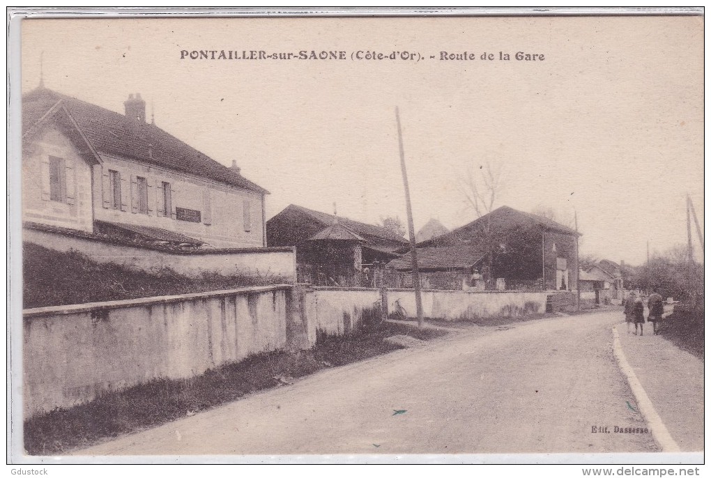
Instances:
[[[621,318],[471,327],[75,455],[659,451],[614,433],[646,427],[612,351]]]

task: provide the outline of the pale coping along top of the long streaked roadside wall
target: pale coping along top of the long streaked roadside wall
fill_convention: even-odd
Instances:
[[[138,299],[109,300],[107,302],[89,302],[72,305],[51,305],[49,307],[38,307],[25,309],[22,311],[23,318],[42,317],[44,315],[70,315],[77,313],[95,312],[97,310],[111,310],[127,307],[141,307],[144,305],[168,304],[175,302],[187,302],[215,297],[225,297],[228,295],[247,295],[251,293],[264,293],[272,290],[287,290],[293,284],[275,284],[273,286],[252,286],[240,287],[229,290],[210,290],[208,292],[198,292],[178,295],[158,295],[155,297],[143,297]]]

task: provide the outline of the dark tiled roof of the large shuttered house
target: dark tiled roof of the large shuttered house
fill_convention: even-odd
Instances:
[[[80,134],[100,153],[132,158],[268,194],[267,190],[240,173],[208,158],[154,124],[139,122],[124,114],[43,87],[33,89],[22,97],[23,136],[35,131],[36,126],[53,116],[50,110],[60,109],[58,107],[68,112]]]

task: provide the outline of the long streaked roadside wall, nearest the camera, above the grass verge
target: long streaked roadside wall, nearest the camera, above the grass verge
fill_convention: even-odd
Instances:
[[[159,377],[202,374],[290,344],[311,347],[295,289],[263,286],[24,310],[25,416]]]

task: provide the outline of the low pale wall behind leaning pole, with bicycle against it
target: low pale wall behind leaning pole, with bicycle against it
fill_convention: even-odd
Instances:
[[[550,292],[518,292],[507,290],[422,290],[424,317],[441,320],[472,320],[487,317],[520,317],[545,313]],[[396,302],[408,317],[417,317],[415,291],[387,290],[387,309],[397,310]]]

